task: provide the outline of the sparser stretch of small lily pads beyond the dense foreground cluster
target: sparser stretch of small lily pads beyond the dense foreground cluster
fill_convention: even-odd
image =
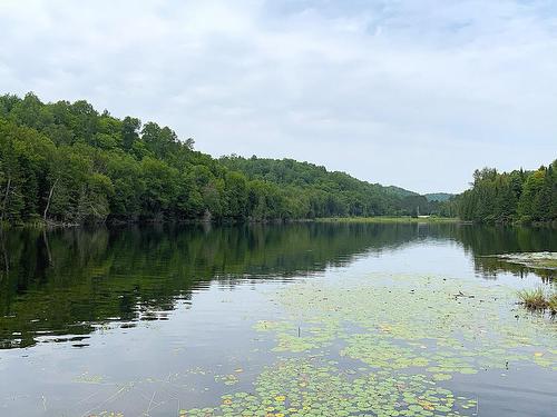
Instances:
[[[557,356],[544,349],[556,346],[556,332],[547,331],[555,324],[527,316],[517,320],[516,295],[504,286],[393,277],[350,287],[304,284],[278,296],[291,321],[256,326],[274,329],[276,350],[322,349],[342,339],[341,355],[378,369],[475,374],[518,361],[557,369]],[[307,326],[301,337],[295,322]]]

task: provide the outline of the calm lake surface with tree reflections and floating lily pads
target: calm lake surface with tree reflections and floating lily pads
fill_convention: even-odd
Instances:
[[[555,416],[516,305],[555,229],[209,225],[0,239],[0,416]]]

